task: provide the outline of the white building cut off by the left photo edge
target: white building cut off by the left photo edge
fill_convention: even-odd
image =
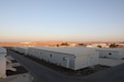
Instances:
[[[5,78],[5,66],[7,66],[7,49],[0,47],[0,78]]]

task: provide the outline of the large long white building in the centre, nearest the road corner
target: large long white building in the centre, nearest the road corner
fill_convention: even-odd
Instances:
[[[86,47],[31,47],[27,54],[72,70],[99,63],[99,52]]]

